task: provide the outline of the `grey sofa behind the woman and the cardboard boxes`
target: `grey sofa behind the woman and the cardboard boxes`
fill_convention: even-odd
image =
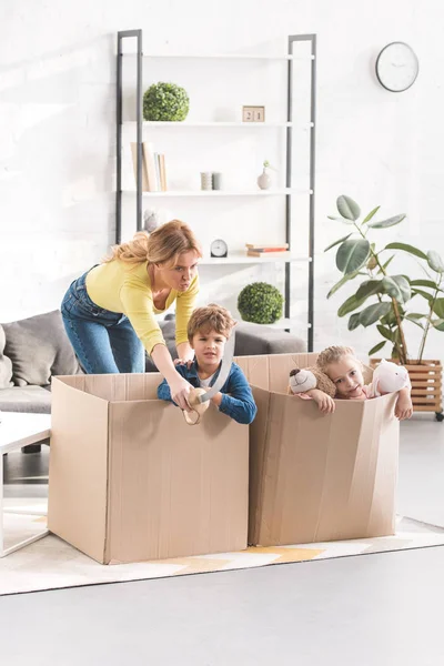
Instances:
[[[174,316],[161,322],[173,357]],[[270,326],[239,322],[236,356],[304,352],[301,339]],[[155,371],[147,356],[147,372]],[[64,332],[58,310],[0,324],[0,411],[50,413],[51,377],[82,372]]]

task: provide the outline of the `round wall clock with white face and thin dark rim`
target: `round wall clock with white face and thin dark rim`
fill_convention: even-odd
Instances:
[[[416,80],[420,63],[415,52],[404,42],[387,44],[376,60],[376,77],[391,92],[407,90]]]

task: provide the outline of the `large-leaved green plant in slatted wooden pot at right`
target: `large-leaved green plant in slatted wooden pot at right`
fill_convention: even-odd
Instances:
[[[441,414],[440,361],[425,360],[424,351],[432,329],[444,331],[444,262],[434,250],[423,252],[406,243],[393,242],[377,249],[372,240],[373,231],[389,229],[405,219],[405,214],[375,221],[380,206],[365,218],[350,196],[336,200],[340,216],[329,215],[351,226],[350,233],[325,249],[336,249],[336,266],[343,273],[341,280],[330,290],[327,299],[344,284],[357,281],[354,294],[340,306],[339,316],[349,317],[349,331],[360,326],[375,326],[382,337],[369,352],[376,354],[389,344],[390,357],[405,365],[412,380],[412,400],[416,411],[435,411]],[[391,272],[392,261],[397,253],[407,253],[417,260],[418,276]],[[421,303],[421,305],[418,305]],[[417,353],[412,357],[406,332],[411,325],[422,330]],[[376,363],[379,360],[373,360]],[[440,417],[441,420],[441,417]]]

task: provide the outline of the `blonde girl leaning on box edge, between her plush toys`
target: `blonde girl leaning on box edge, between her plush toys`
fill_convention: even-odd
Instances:
[[[351,347],[330,346],[317,356],[316,365],[332,380],[336,386],[336,400],[369,400],[371,386],[364,384],[363,367],[361,361],[354,355]],[[312,389],[306,392],[316,403],[321,412],[331,414],[334,412],[334,400],[323,391]],[[411,384],[398,392],[395,416],[403,421],[410,418],[413,412],[411,398]]]

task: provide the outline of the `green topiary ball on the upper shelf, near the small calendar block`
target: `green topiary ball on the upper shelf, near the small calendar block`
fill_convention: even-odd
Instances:
[[[186,91],[175,83],[153,83],[143,95],[145,120],[185,120],[189,110],[190,99]]]

